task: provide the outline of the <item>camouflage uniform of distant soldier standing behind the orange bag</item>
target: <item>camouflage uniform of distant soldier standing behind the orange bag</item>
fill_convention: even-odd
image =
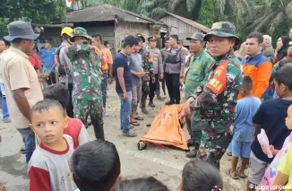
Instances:
[[[146,100],[147,100],[147,96],[150,92],[149,89],[149,82],[152,76],[154,76],[153,71],[153,65],[148,63],[148,56],[149,56],[149,50],[147,47],[144,47],[141,49],[140,54],[142,56],[142,68],[144,70],[144,72],[150,72],[150,74],[148,74],[145,77],[142,77],[142,97],[141,97],[141,102],[140,102],[140,107],[142,109],[142,112],[144,114],[148,114],[147,110],[146,110]]]

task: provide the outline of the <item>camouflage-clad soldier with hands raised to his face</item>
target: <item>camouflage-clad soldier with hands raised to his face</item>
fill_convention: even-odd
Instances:
[[[73,29],[74,45],[68,48],[68,57],[73,65],[73,107],[74,117],[87,124],[90,116],[97,139],[104,139],[101,93],[101,53],[90,46],[92,38],[81,27]]]

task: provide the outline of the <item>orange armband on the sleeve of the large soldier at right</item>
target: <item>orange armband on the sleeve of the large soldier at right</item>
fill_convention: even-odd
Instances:
[[[226,74],[228,70],[228,62],[223,62],[214,71],[213,76],[207,83],[207,87],[216,94],[220,94],[226,88]]]

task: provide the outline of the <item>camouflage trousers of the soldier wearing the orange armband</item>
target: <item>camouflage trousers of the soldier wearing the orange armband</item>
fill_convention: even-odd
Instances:
[[[197,158],[208,161],[219,168],[220,159],[232,140],[233,122],[202,120],[202,138]]]

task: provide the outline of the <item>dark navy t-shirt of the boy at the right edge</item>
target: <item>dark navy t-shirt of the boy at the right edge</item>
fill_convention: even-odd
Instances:
[[[262,103],[260,109],[257,110],[253,117],[253,123],[261,125],[268,136],[269,143],[280,150],[285,139],[290,135],[291,131],[285,125],[288,107],[292,104],[292,100],[266,100]],[[262,152],[261,144],[257,137],[253,141],[252,151],[256,158],[261,161],[271,163],[273,158]]]

